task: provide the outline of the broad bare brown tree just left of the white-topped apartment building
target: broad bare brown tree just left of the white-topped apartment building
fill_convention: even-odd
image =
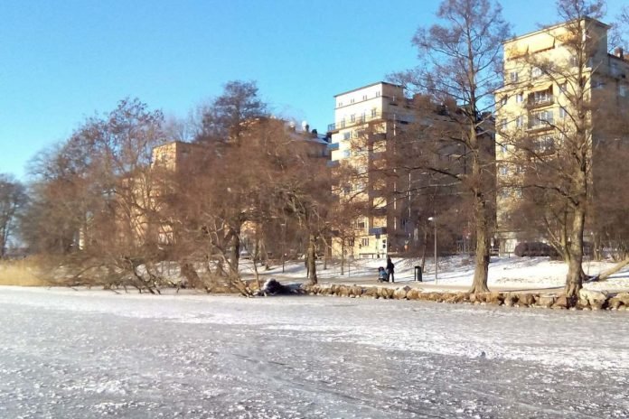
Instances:
[[[267,234],[277,233],[269,225],[295,224],[316,241],[324,223],[314,221],[319,210],[311,197],[324,188],[315,167],[307,141],[276,119],[249,120],[238,138],[203,143],[178,174],[170,200],[179,253],[211,260],[211,275],[241,287],[239,250],[253,240],[258,246],[249,253],[266,257],[260,250],[273,242]]]

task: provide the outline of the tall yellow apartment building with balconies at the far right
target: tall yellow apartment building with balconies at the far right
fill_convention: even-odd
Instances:
[[[496,159],[499,184],[517,184],[521,167],[509,165],[517,150],[514,137],[528,137],[531,148],[539,154],[553,154],[562,146],[564,135],[574,124],[574,100],[579,77],[587,103],[606,107],[626,106],[629,100],[629,61],[624,51],[608,53],[609,26],[595,19],[560,23],[533,33],[526,33],[504,42],[504,86],[496,91]],[[584,56],[578,57],[575,36],[582,37]],[[570,40],[573,43],[570,43]],[[578,76],[577,76],[578,75]],[[598,131],[604,124],[601,113],[587,109],[592,121],[593,149],[601,140]],[[600,148],[600,147],[599,147]],[[593,152],[590,152],[593,153]],[[590,182],[596,179],[596,156]],[[513,230],[511,219],[522,199],[518,188],[503,188],[497,194],[497,237],[502,252],[512,252],[520,241],[539,240],[524,237]]]

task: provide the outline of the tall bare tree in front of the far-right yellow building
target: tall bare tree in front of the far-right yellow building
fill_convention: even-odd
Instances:
[[[598,149],[605,147],[608,135],[604,127],[609,98],[599,75],[607,60],[606,28],[596,21],[604,13],[605,2],[559,0],[557,10],[565,23],[544,31],[567,51],[566,56],[527,52],[520,61],[559,86],[560,116],[555,119],[548,112],[531,112],[528,129],[511,134],[515,152],[508,163],[522,172],[519,183],[511,186],[524,191],[524,205],[533,203],[528,213],[540,220],[568,263],[565,292],[575,301],[585,277],[584,231],[592,182],[598,177],[593,159]]]

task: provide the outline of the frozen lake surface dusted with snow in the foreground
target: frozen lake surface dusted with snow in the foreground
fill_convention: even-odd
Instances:
[[[0,287],[2,418],[626,418],[629,314]]]

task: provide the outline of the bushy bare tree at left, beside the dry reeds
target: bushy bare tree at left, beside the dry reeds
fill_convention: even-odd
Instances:
[[[27,237],[40,251],[71,256],[75,280],[107,276],[106,282],[155,292],[151,264],[160,252],[150,160],[164,142],[162,124],[160,111],[124,99],[33,163]]]

